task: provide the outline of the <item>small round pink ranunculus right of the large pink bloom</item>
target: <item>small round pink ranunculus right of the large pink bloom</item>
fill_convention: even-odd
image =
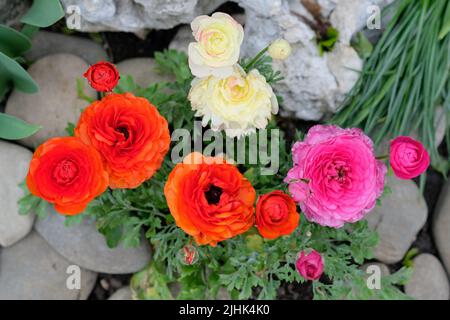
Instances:
[[[424,173],[430,165],[430,156],[424,146],[410,137],[391,141],[390,163],[400,179],[412,179]]]

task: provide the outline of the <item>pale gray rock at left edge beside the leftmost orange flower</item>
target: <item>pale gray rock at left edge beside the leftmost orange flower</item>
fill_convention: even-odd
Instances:
[[[31,157],[29,150],[0,140],[0,246],[16,243],[33,227],[34,215],[19,215],[17,204]]]

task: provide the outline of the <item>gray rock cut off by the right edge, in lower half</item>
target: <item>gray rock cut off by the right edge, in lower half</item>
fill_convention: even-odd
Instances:
[[[433,217],[433,237],[450,274],[450,182],[441,191]]]

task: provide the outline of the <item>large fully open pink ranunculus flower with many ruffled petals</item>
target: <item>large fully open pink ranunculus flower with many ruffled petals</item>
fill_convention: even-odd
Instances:
[[[383,193],[387,168],[360,129],[314,126],[292,157],[289,192],[305,217],[320,225],[340,228],[361,220]]]

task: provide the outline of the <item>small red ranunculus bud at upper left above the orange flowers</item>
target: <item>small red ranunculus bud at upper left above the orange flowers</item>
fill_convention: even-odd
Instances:
[[[92,65],[83,76],[92,88],[100,92],[112,91],[120,79],[116,66],[106,61]]]

